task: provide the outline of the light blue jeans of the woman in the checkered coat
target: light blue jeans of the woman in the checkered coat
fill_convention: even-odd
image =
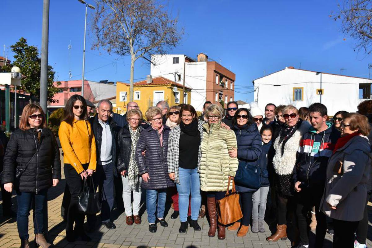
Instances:
[[[180,184],[176,184],[178,191],[178,204],[180,211],[180,221],[187,221],[189,210],[189,197],[191,193],[191,219],[198,220],[199,209],[202,203],[200,195],[200,179],[198,168],[184,169],[179,168]]]

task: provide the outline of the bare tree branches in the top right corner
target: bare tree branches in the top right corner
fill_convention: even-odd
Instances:
[[[356,39],[354,51],[372,52],[372,0],[344,0],[339,13],[330,15],[342,20],[342,32]]]

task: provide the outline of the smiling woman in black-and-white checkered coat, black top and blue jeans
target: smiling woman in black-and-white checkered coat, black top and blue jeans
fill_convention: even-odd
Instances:
[[[201,159],[201,141],[203,139],[203,121],[198,120],[193,106],[186,104],[180,110],[179,125],[169,133],[168,173],[176,183],[179,193],[180,233],[187,229],[187,212],[191,193],[190,226],[200,231],[198,225],[201,204],[199,166]]]

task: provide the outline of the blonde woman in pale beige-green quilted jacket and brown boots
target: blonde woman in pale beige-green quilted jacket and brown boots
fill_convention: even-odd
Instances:
[[[223,109],[212,104],[204,118],[202,158],[200,164],[200,188],[207,193],[209,215],[209,237],[214,237],[217,229],[218,200],[224,198],[229,178],[234,178],[238,169],[238,159],[231,158],[228,151],[237,148],[234,131],[221,128]],[[230,185],[230,190],[232,186]],[[218,223],[218,239],[225,239],[225,226]]]

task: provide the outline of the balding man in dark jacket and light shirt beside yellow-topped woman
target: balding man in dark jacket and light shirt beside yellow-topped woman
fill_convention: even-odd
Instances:
[[[100,186],[99,190],[102,190],[102,224],[108,229],[115,229],[110,214],[114,204],[114,176],[117,177],[116,136],[120,127],[110,117],[112,104],[109,100],[100,100],[96,110],[97,115],[89,119],[97,149],[97,168],[93,174],[93,182],[95,187]],[[94,229],[96,215],[89,215],[87,218],[90,228]]]

